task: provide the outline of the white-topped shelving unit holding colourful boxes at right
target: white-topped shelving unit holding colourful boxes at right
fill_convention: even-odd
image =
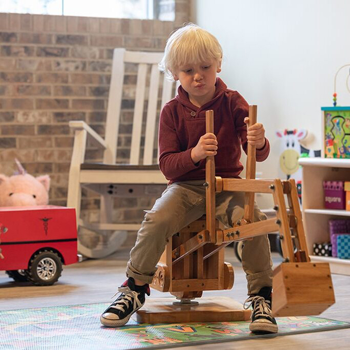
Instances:
[[[311,261],[327,262],[332,273],[350,275],[350,259],[314,256],[313,243],[329,241],[328,220],[350,217],[350,211],[324,208],[323,181],[350,181],[349,159],[302,158],[302,212],[307,248]]]

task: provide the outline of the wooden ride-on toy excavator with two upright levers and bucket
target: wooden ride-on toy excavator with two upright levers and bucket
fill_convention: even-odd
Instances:
[[[250,125],[257,106],[249,107]],[[214,132],[214,113],[206,111],[206,132]],[[328,263],[310,261],[295,181],[256,180],[255,146],[248,144],[246,179],[215,177],[214,156],[206,159],[206,215],[172,236],[159,261],[151,287],[172,298],[148,299],[137,312],[145,323],[242,321],[250,310],[231,298],[200,298],[204,290],[231,289],[233,267],[224,262],[224,247],[233,241],[279,232],[284,261],[273,272],[275,317],[317,315],[335,303]],[[215,218],[215,194],[245,192],[244,216],[227,229]],[[254,194],[271,194],[275,218],[253,222]],[[287,198],[288,208],[285,200]]]

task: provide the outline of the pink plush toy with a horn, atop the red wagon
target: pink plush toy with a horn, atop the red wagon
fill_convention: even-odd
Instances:
[[[50,177],[34,178],[28,174],[21,163],[15,159],[19,173],[7,177],[0,174],[0,206],[46,205]]]

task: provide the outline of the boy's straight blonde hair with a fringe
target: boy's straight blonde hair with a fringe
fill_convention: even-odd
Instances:
[[[171,33],[159,69],[173,81],[171,72],[177,67],[208,59],[222,59],[221,45],[213,34],[189,23]]]

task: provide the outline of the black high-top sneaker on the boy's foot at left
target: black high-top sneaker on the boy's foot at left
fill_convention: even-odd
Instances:
[[[148,284],[135,286],[131,277],[118,288],[118,292],[118,298],[101,314],[100,321],[104,326],[124,326],[131,315],[145,304],[145,294],[150,294]]]

